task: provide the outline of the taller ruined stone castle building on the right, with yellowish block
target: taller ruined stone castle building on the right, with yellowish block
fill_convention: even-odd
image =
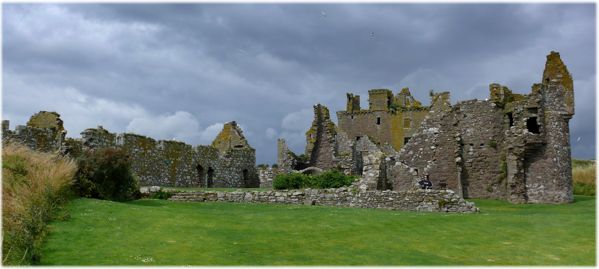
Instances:
[[[569,120],[573,81],[559,53],[547,56],[540,83],[529,94],[491,84],[487,100],[452,105],[449,92],[423,106],[408,89],[369,91],[369,109],[347,94],[339,126],[322,105],[306,132],[311,166],[361,175],[362,190],[417,188],[429,175],[434,189],[464,198],[513,203],[571,202]],[[279,140],[278,165],[293,170],[296,155]]]

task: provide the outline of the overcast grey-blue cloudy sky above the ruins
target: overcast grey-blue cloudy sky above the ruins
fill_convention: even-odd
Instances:
[[[276,162],[302,153],[312,106],[410,87],[485,99],[529,93],[559,51],[574,78],[572,155],[595,157],[594,4],[3,4],[3,118],[61,114],[67,136],[102,125],[209,144],[235,120]]]

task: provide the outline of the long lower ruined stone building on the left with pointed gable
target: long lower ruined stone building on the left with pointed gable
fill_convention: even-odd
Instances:
[[[26,126],[9,130],[2,122],[3,141],[12,140],[40,151],[79,156],[83,150],[117,147],[132,160],[142,186],[257,187],[256,152],[236,122],[226,123],[212,145],[191,146],[178,141],[154,140],[131,133],[115,134],[101,126],[86,129],[80,139],[65,138],[60,115],[39,112]]]

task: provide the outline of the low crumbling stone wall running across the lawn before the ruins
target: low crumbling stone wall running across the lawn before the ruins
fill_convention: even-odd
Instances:
[[[384,208],[417,212],[478,212],[451,190],[362,191],[354,188],[305,189],[281,191],[179,192],[171,201],[238,202],[327,205],[340,207]]]

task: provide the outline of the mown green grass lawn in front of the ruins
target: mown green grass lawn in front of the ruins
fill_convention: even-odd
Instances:
[[[45,265],[595,265],[595,198],[479,214],[77,199]]]

